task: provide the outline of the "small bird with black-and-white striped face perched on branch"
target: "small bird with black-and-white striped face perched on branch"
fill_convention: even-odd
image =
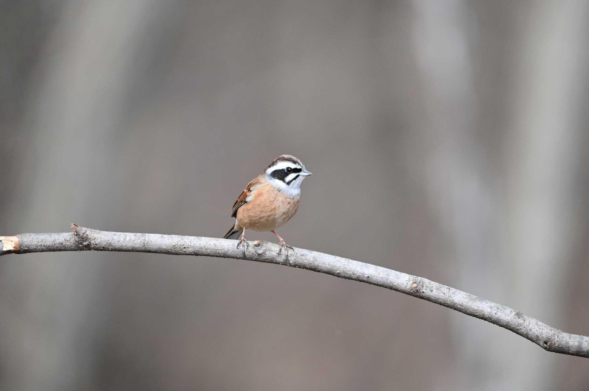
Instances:
[[[258,232],[272,232],[280,241],[279,254],[284,249],[286,260],[289,259],[289,249],[294,249],[280,238],[277,228],[286,224],[299,209],[300,185],[303,179],[313,175],[305,168],[300,159],[292,155],[280,155],[260,175],[247,184],[233,204],[231,217],[235,223],[223,236],[229,238],[234,233],[241,232],[241,246],[243,258],[246,258],[246,229]]]

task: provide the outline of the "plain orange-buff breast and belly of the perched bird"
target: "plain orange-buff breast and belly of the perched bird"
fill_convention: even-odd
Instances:
[[[250,200],[237,210],[237,221],[243,228],[271,231],[280,228],[299,209],[300,195],[284,195],[264,181],[252,190]]]

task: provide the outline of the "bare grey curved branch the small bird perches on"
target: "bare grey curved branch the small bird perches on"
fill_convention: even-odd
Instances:
[[[236,248],[236,240],[153,233],[106,232],[78,227],[75,224],[71,227],[74,232],[0,236],[3,244],[0,256],[32,252],[95,250],[243,259],[241,249]],[[246,251],[246,260],[293,266],[382,286],[487,320],[531,340],[548,352],[589,357],[589,337],[562,332],[522,312],[461,290],[369,263],[305,249],[296,249],[296,252],[291,252],[287,261],[284,259],[284,254],[277,254],[279,245],[259,240],[252,244]]]

